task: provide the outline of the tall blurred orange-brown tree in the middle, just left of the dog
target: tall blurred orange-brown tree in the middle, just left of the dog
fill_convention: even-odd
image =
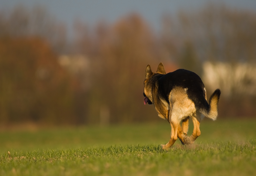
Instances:
[[[95,31],[89,35],[85,28],[83,32],[87,34],[79,34],[85,36],[79,43],[84,43],[81,50],[91,57],[93,68],[90,123],[102,124],[98,122],[100,119],[106,124],[109,123],[106,120],[130,123],[157,119],[152,116],[154,109],[144,106],[142,94],[146,65],[158,64],[154,37],[148,26],[140,16],[132,14],[113,27],[99,23]],[[142,110],[145,108],[147,111]]]

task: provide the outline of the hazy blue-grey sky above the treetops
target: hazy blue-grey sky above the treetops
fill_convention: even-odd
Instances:
[[[42,5],[65,22],[69,32],[77,18],[89,25],[102,19],[113,23],[122,16],[136,12],[157,30],[163,13],[176,13],[179,9],[193,10],[209,2],[224,2],[227,6],[256,11],[256,0],[0,0],[0,9],[8,10],[18,4],[27,7]]]

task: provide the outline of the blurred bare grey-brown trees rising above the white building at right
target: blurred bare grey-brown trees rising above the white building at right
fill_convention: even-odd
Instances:
[[[174,18],[165,14],[163,23],[166,52],[171,52],[182,67],[186,62],[191,70],[197,70],[197,65],[206,60],[256,62],[254,12],[209,4],[197,12],[180,11]],[[188,53],[193,53],[194,59],[185,57]]]

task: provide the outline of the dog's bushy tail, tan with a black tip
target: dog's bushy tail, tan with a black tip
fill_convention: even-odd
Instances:
[[[199,112],[212,120],[216,120],[218,116],[218,102],[220,93],[220,90],[216,89],[210,97],[209,105],[207,104],[207,106],[199,108]]]

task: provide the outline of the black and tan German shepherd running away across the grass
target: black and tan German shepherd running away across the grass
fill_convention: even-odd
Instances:
[[[147,65],[144,104],[155,104],[158,116],[167,119],[172,128],[171,138],[166,145],[161,145],[162,148],[168,150],[178,138],[183,145],[192,144],[201,134],[200,120],[204,116],[216,120],[220,93],[216,89],[208,104],[204,83],[196,73],[178,69],[166,74],[162,62],[153,73],[150,65]],[[187,136],[189,118],[194,124],[190,137]]]

